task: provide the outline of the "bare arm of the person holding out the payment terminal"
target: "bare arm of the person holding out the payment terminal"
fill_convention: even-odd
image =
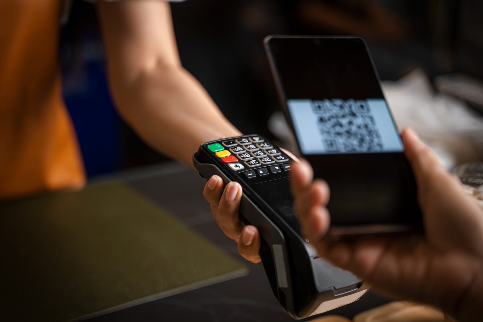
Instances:
[[[143,140],[192,166],[200,143],[240,134],[181,66],[168,3],[100,2],[99,14],[111,93]]]

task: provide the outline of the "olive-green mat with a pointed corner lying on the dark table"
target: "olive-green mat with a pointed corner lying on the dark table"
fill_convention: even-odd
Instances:
[[[122,183],[0,205],[0,261],[2,321],[78,320],[247,273]]]

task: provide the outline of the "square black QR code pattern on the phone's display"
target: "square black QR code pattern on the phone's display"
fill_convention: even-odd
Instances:
[[[365,100],[324,99],[313,102],[327,152],[377,152],[381,135]]]

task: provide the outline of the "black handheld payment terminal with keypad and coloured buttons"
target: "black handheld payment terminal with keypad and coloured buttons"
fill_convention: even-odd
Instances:
[[[241,184],[240,218],[258,228],[260,257],[273,294],[284,310],[301,319],[341,307],[367,293],[369,285],[331,266],[300,233],[289,176],[292,159],[260,135],[206,142],[193,164],[208,180]]]

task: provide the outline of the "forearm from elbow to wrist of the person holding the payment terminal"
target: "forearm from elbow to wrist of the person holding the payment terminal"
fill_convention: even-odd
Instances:
[[[202,142],[241,134],[181,66],[158,66],[129,84],[111,84],[120,114],[138,135],[189,166]]]

